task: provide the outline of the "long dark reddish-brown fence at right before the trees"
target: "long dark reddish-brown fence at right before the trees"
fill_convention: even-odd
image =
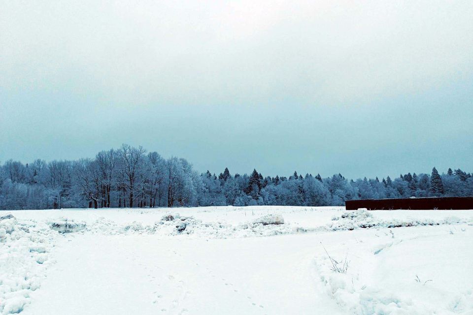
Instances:
[[[464,210],[473,209],[473,197],[432,197],[398,199],[360,199],[345,201],[346,210],[367,208],[368,210]]]

